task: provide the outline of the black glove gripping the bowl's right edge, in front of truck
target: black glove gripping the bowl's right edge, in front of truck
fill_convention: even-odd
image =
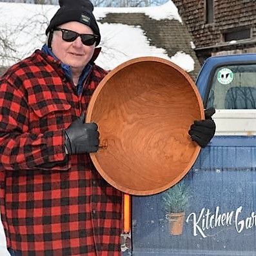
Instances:
[[[188,131],[192,141],[195,141],[202,148],[210,143],[215,134],[216,125],[212,119],[212,115],[214,113],[215,108],[213,107],[205,110],[205,120],[194,121],[194,123],[190,126],[190,130]]]

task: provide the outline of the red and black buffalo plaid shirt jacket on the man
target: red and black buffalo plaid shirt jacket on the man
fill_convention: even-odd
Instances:
[[[104,75],[93,65],[77,95],[60,63],[37,50],[0,79],[1,218],[7,246],[23,256],[121,255],[121,192],[89,155],[64,151],[64,129]]]

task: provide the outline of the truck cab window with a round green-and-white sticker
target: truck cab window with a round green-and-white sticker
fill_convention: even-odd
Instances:
[[[226,110],[256,109],[256,64],[217,68],[207,106]]]

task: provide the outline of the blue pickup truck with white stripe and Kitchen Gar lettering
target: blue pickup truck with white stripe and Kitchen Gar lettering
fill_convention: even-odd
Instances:
[[[210,57],[196,84],[215,136],[182,181],[132,196],[124,255],[256,255],[256,54]],[[182,212],[178,230],[167,206]]]

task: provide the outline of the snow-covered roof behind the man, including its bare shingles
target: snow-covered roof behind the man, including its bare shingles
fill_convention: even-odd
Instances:
[[[0,31],[16,49],[15,63],[41,48],[46,27],[59,6],[0,3]],[[134,57],[155,56],[178,64],[187,72],[196,69],[197,58],[186,27],[172,1],[161,6],[108,8],[95,7],[101,30],[102,52],[96,60],[106,70]],[[21,31],[19,31],[21,30]],[[1,46],[0,46],[1,47]],[[1,48],[0,48],[1,54]]]

